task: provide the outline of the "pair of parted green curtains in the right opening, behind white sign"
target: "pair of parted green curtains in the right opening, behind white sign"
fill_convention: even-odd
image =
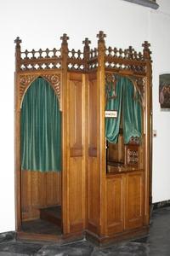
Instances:
[[[111,82],[112,83],[112,82]],[[105,137],[110,143],[117,143],[119,135],[121,113],[124,143],[131,137],[141,137],[141,105],[139,93],[134,95],[133,82],[126,77],[116,75],[116,97],[111,83],[105,84],[107,102],[105,110],[116,110],[117,118],[105,118]],[[110,99],[109,99],[110,98]]]

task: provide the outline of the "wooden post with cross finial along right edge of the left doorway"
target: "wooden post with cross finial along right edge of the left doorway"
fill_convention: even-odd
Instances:
[[[67,57],[68,57],[68,37],[66,34],[60,38],[61,44],[61,67],[62,67],[62,82],[61,82],[61,108],[62,108],[62,224],[63,233],[69,233],[69,189],[68,189],[68,125],[67,125]]]

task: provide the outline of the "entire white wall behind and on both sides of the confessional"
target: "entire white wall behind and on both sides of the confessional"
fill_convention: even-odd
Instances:
[[[154,138],[153,200],[170,199],[168,145],[169,113],[158,103],[158,76],[170,73],[170,3],[151,10],[122,0],[5,0],[0,2],[0,232],[14,230],[14,38],[23,40],[22,49],[60,47],[60,36],[70,36],[69,48],[82,49],[88,37],[96,46],[96,34],[103,30],[109,46],[133,45],[141,50],[144,40],[152,44]]]

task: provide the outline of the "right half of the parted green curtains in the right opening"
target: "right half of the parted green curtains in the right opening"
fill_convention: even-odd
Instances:
[[[141,137],[141,105],[139,92],[134,93],[133,82],[125,79],[122,94],[122,124],[124,143],[127,144],[131,137]]]

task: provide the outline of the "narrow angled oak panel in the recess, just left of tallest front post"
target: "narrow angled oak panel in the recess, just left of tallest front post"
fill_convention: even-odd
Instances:
[[[99,160],[97,158],[97,73],[88,76],[88,230],[99,234]]]

